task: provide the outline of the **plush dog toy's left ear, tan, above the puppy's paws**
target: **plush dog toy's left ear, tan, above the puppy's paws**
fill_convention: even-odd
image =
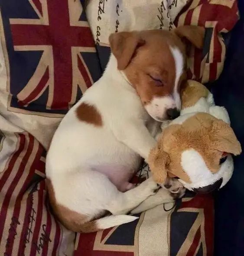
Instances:
[[[151,150],[148,164],[153,174],[153,180],[156,183],[163,184],[167,178],[166,165],[169,161],[169,155],[161,150],[159,147],[155,147]]]

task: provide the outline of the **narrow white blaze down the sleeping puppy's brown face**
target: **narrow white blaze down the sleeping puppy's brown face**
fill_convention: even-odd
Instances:
[[[179,84],[179,79],[180,76],[183,73],[183,66],[184,66],[184,58],[182,56],[182,53],[180,52],[180,50],[177,47],[169,47],[174,60],[175,60],[175,64],[176,64],[176,79],[175,79],[175,86],[174,86],[174,92],[173,92],[173,97],[174,100],[176,102],[176,107],[178,109],[180,109],[181,106],[181,100],[180,100],[180,95],[178,92],[178,84]]]

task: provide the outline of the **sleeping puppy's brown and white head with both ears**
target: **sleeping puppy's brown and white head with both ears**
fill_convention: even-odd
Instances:
[[[114,33],[109,37],[118,70],[123,70],[155,120],[179,116],[179,90],[187,68],[184,42],[202,48],[204,32],[202,27],[183,26],[172,32],[145,30]]]

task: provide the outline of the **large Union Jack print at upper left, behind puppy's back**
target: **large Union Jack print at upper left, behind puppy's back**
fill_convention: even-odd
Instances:
[[[9,109],[66,113],[101,75],[81,2],[0,0],[0,10]]]

